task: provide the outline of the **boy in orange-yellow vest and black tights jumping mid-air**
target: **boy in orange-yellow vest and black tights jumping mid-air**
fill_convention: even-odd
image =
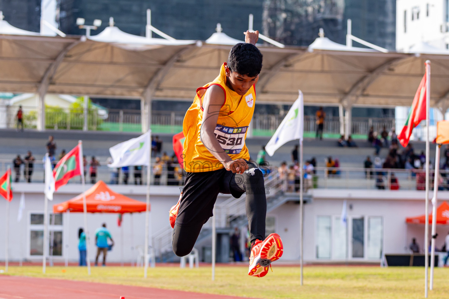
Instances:
[[[248,274],[262,277],[282,256],[278,234],[265,238],[264,177],[250,162],[245,145],[255,104],[255,84],[262,69],[262,53],[255,46],[259,31],[245,32],[245,43],[229,52],[228,62],[211,83],[197,89],[183,123],[185,186],[170,210],[174,228],[172,247],[177,256],[192,251],[202,225],[212,216],[218,193],[239,198],[246,192],[251,234]],[[263,241],[262,241],[263,240]]]

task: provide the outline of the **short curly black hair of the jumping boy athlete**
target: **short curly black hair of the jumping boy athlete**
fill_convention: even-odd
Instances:
[[[231,72],[255,77],[262,69],[262,59],[263,55],[255,45],[238,43],[229,52],[228,68]]]

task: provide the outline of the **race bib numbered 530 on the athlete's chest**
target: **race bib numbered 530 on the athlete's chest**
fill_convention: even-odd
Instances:
[[[215,127],[215,137],[221,147],[229,155],[239,154],[245,146],[245,134],[248,127],[225,127],[217,125]]]

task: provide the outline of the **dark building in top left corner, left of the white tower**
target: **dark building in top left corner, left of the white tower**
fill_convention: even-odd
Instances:
[[[14,27],[38,32],[41,0],[0,0],[4,20]]]

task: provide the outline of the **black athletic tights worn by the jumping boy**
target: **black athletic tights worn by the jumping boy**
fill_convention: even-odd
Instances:
[[[256,239],[264,240],[267,213],[264,177],[256,165],[247,163],[249,169],[243,174],[235,174],[225,169],[206,173],[188,173],[180,212],[173,230],[172,247],[177,256],[186,256],[192,251],[202,225],[212,215],[213,204],[219,192],[232,194],[237,198],[246,192],[245,202],[251,243]],[[189,206],[195,209],[189,210]],[[198,210],[202,212],[198,213]],[[181,217],[180,213],[182,213]],[[192,217],[189,217],[190,215]],[[192,221],[191,218],[196,218],[199,222]]]

